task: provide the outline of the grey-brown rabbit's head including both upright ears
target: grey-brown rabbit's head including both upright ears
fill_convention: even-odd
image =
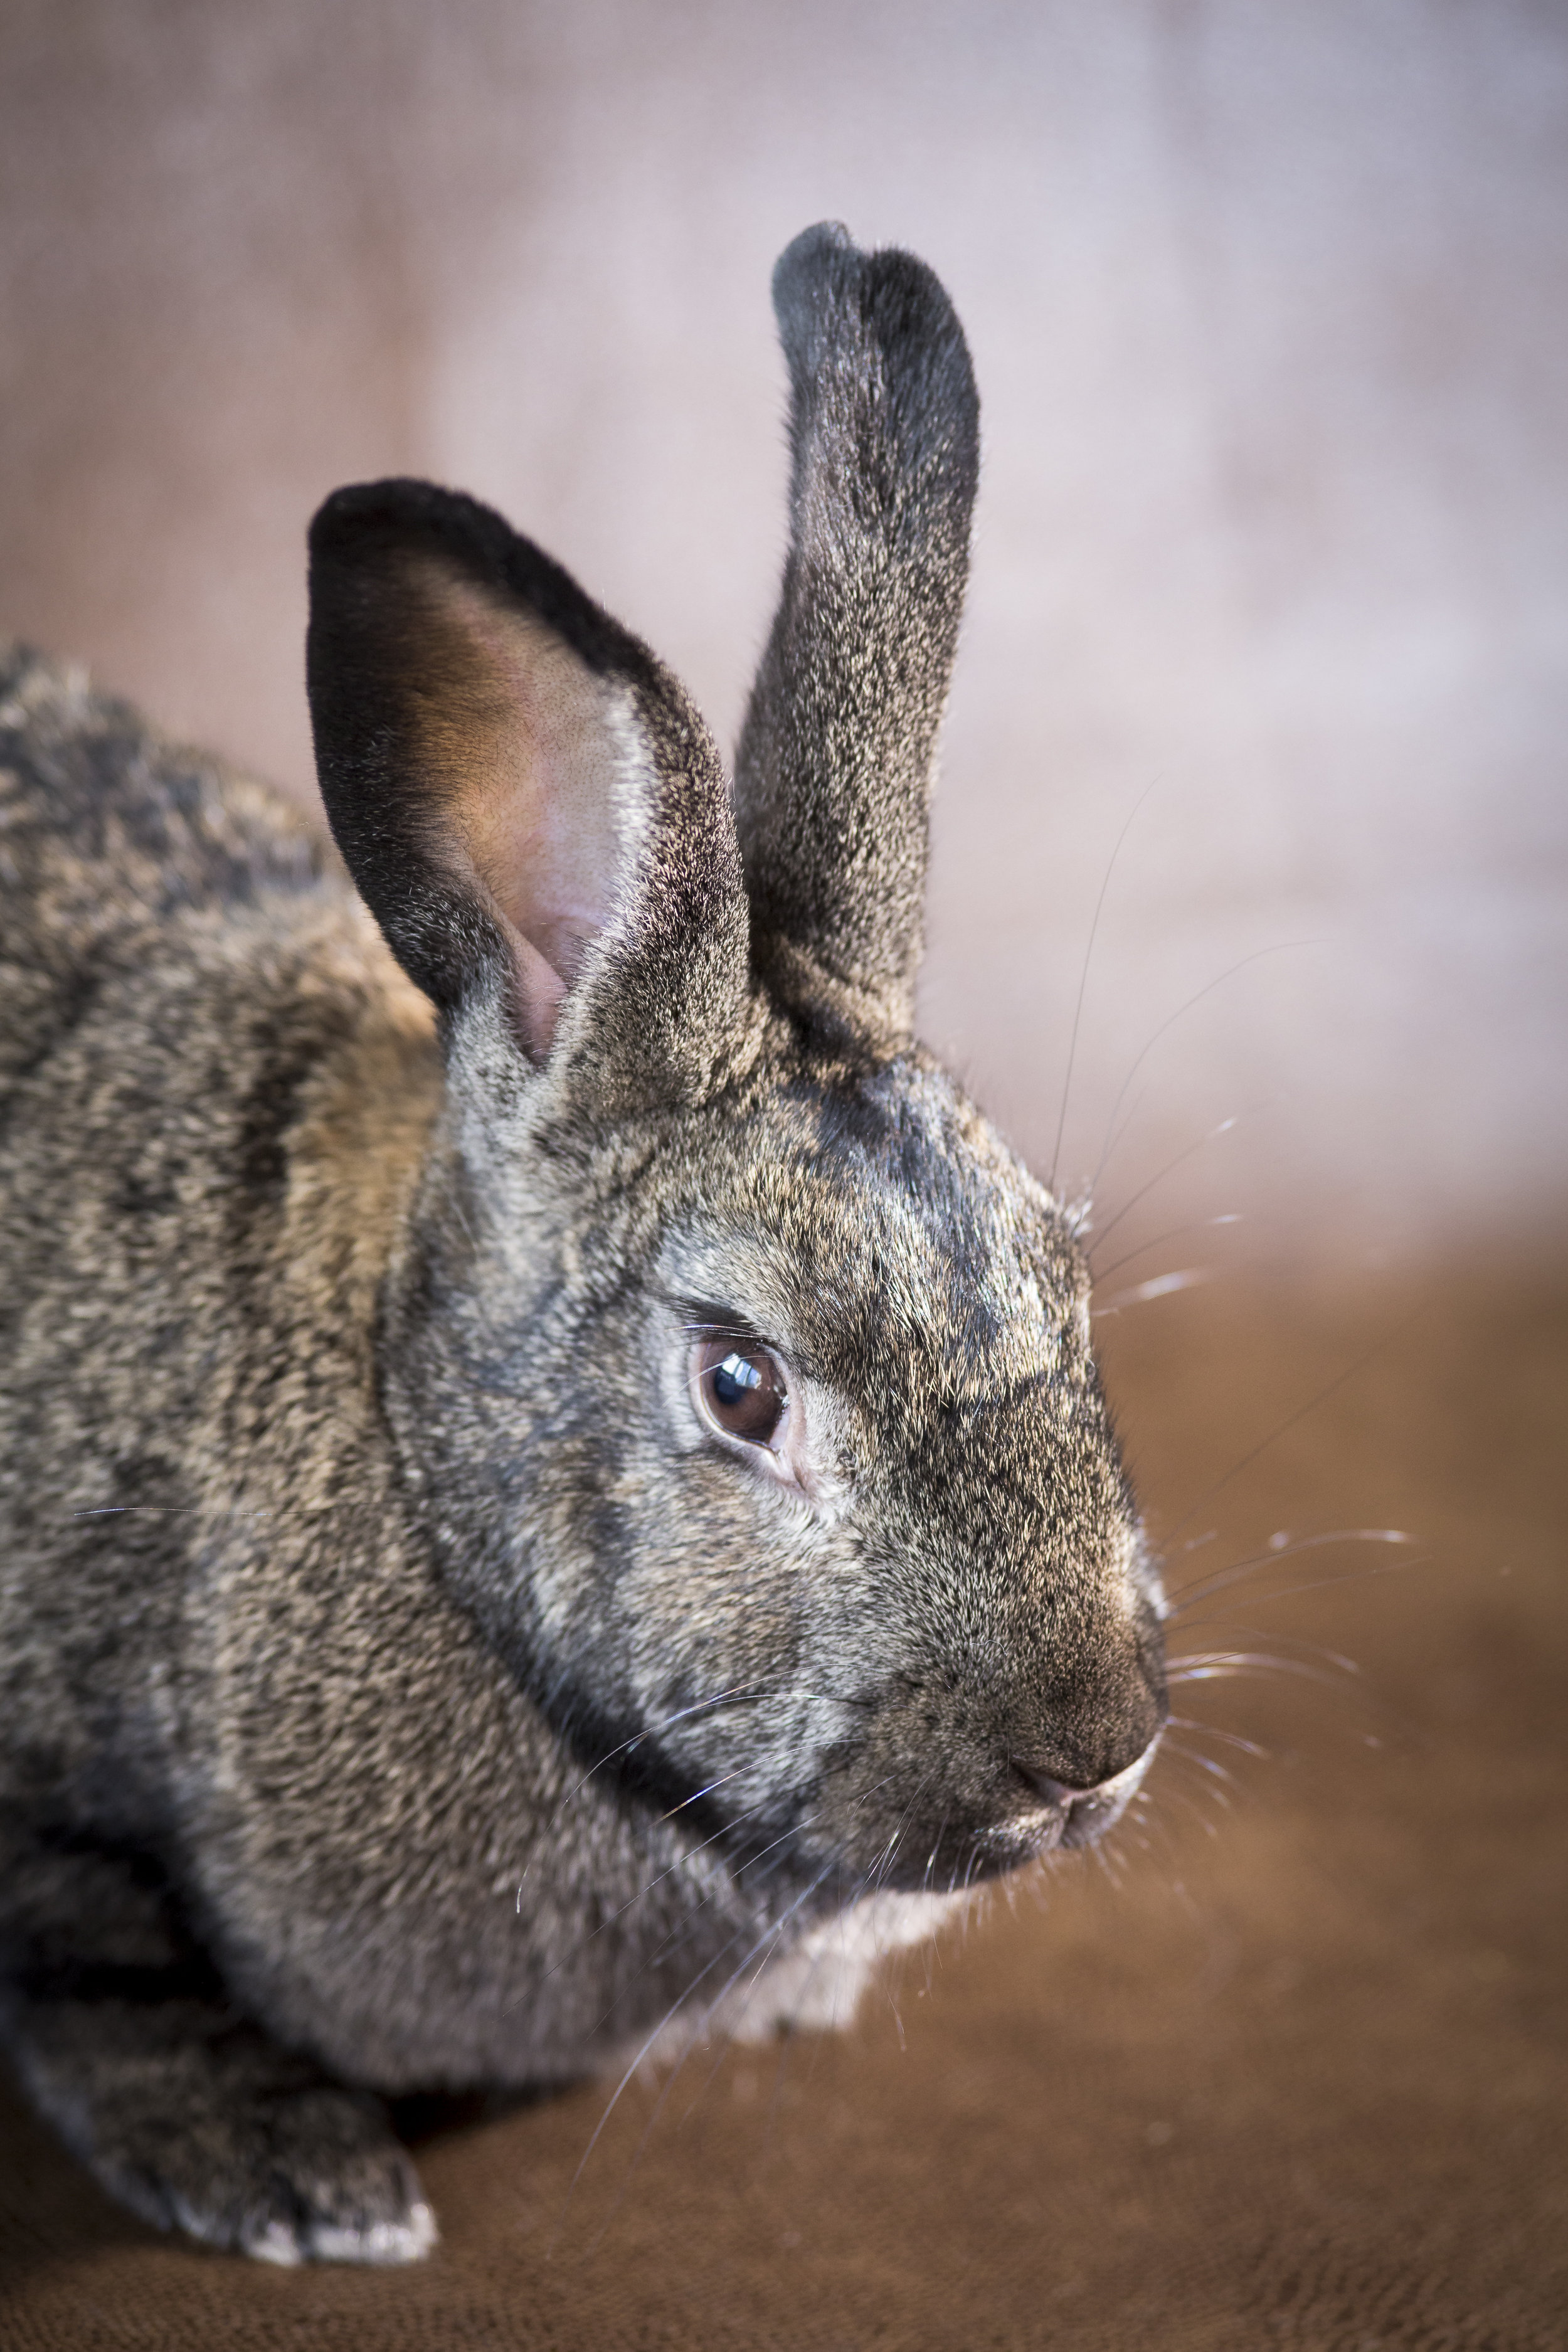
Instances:
[[[308,675],[447,1061],[378,1334],[409,1508],[585,1771],[842,1900],[1098,1835],[1164,1670],[1070,1221],[912,1035],[969,353],[835,228],[773,292],[733,795],[675,677],[428,485],[317,515]]]

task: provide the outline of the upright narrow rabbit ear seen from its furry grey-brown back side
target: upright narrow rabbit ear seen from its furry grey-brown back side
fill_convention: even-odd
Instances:
[[[790,555],[736,757],[752,953],[806,1018],[910,1035],[936,729],[969,574],[978,397],[912,254],[809,228],[773,270]]]

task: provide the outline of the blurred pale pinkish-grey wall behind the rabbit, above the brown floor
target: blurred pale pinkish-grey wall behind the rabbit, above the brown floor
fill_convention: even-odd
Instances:
[[[1126,1209],[1103,1263],[1246,1218],[1126,1282],[1559,1216],[1561,0],[0,26],[0,628],[310,795],[303,529],[407,470],[733,743],[783,553],[769,268],[839,216],[936,266],[983,395],[929,1040]]]

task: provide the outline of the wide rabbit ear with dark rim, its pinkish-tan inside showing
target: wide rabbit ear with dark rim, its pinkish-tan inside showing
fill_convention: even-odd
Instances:
[[[447,1018],[498,997],[531,1061],[703,1087],[748,985],[741,856],[646,647],[487,506],[369,482],[310,527],[306,668],[339,849]]]

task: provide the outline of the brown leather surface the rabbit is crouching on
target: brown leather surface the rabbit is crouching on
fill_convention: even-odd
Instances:
[[[425,2140],[423,2270],[160,2241],[5,2103],[7,2352],[1566,2345],[1568,1282],[1253,1277],[1103,1334],[1157,1531],[1392,1334],[1175,1538],[1218,1529],[1175,1581],[1422,1538],[1178,1628],[1309,1670],[1178,1686],[1267,1759],[1178,1731],[1147,1851],[1020,1886],[844,2039],[632,2086],[576,2187],[602,2089]]]

